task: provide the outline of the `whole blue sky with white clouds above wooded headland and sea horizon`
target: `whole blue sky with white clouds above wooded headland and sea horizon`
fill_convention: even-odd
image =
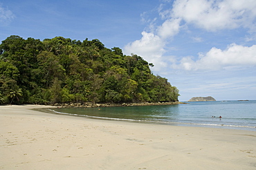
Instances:
[[[0,41],[99,39],[196,96],[256,100],[255,0],[1,0]]]

